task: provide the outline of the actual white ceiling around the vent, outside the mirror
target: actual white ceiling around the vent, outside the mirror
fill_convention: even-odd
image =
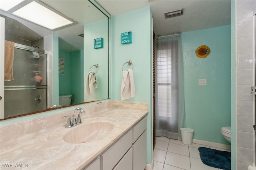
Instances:
[[[96,0],[111,16],[150,6],[156,35],[230,25],[230,0]],[[184,8],[184,15],[164,13]],[[139,17],[139,16],[138,16]]]

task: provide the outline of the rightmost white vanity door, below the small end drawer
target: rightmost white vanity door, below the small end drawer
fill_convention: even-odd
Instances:
[[[147,158],[147,130],[132,145],[133,148],[133,170],[144,170]]]

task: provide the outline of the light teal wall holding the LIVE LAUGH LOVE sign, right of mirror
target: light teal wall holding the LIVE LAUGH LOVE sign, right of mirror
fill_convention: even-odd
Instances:
[[[135,97],[124,101],[148,103],[147,163],[152,162],[152,14],[143,8],[111,18],[112,100],[121,100],[122,65],[131,60],[134,69]],[[121,44],[121,33],[132,31],[132,43]],[[124,67],[128,69],[129,67]]]

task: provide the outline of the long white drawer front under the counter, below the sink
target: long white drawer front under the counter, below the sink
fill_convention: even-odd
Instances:
[[[112,170],[131,146],[132,130],[100,156],[102,170]]]

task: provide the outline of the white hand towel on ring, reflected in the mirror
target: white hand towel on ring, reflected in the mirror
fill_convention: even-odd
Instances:
[[[94,72],[89,71],[86,82],[85,82],[85,94],[90,96],[92,99],[94,98],[94,89],[97,89],[97,79]]]

